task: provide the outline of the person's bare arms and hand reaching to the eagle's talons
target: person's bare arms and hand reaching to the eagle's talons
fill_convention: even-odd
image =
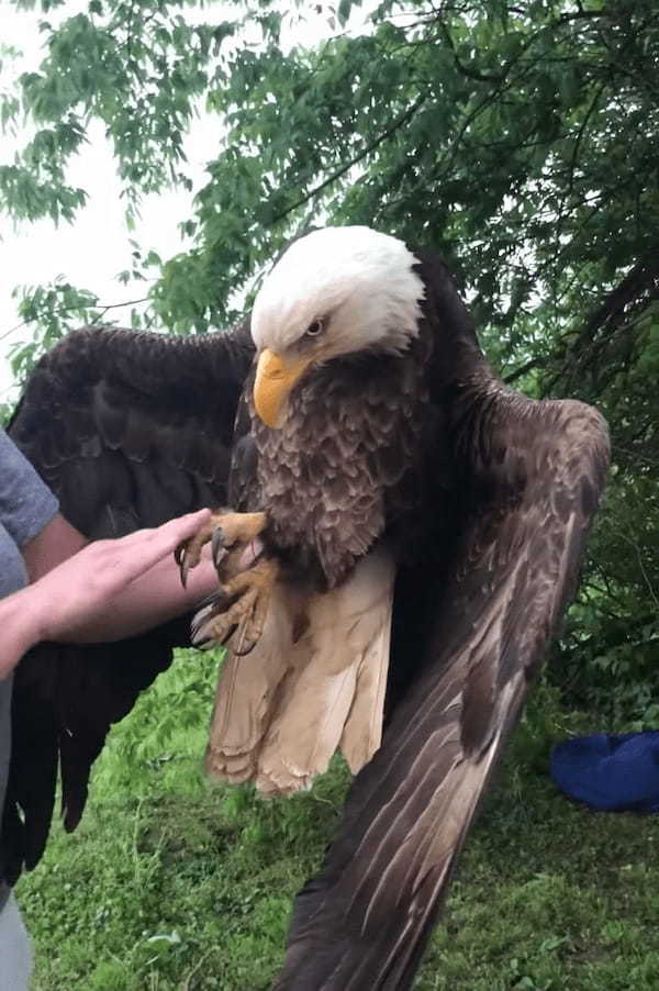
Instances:
[[[183,589],[172,552],[208,515],[83,548],[85,538],[55,516],[24,548],[32,583],[0,601],[0,677],[40,641],[122,639],[193,608],[215,587],[214,569],[204,558]]]

